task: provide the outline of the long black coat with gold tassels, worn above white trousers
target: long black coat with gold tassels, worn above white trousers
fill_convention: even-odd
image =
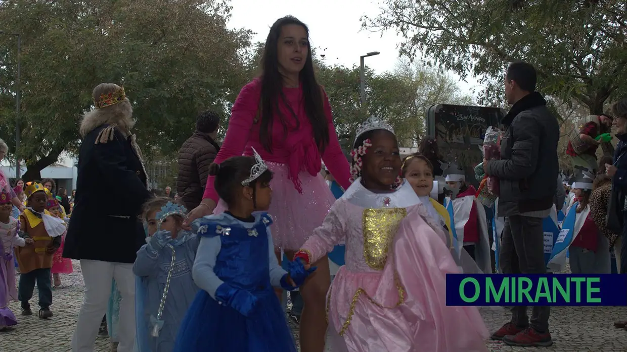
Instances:
[[[107,127],[94,129],[81,145],[74,211],[63,256],[134,263],[137,250],[145,243],[138,216],[150,193],[130,138],[116,128],[113,140],[95,144]]]

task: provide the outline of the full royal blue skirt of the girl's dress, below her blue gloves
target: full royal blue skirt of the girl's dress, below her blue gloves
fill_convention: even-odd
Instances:
[[[297,352],[274,290],[256,294],[258,308],[246,318],[201,289],[181,323],[173,352]]]

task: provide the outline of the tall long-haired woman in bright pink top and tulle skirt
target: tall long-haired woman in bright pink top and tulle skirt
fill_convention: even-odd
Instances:
[[[335,134],[329,99],[315,79],[307,26],[293,17],[278,19],[266,39],[262,68],[261,76],[241,89],[214,162],[251,155],[251,147],[260,153],[274,173],[268,213],[277,256],[283,249],[293,258],[335,201],[320,175],[321,159],[344,189],[350,185],[349,163]],[[216,207],[213,181],[207,179],[203,202],[189,213],[187,224],[224,210],[223,202]],[[318,267],[316,273],[300,288],[300,346],[303,352],[322,352],[330,285],[327,256],[312,266]]]

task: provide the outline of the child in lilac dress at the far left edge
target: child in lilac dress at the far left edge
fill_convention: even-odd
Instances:
[[[13,311],[8,307],[9,301],[18,299],[13,247],[26,245],[26,241],[18,236],[19,223],[11,216],[11,209],[11,193],[0,189],[0,331],[18,324]],[[29,239],[28,243],[33,244],[33,240]]]

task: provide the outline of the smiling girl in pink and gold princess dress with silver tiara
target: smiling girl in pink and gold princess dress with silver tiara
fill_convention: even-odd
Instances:
[[[487,351],[476,307],[446,306],[446,274],[459,273],[448,234],[399,178],[401,158],[389,124],[357,130],[355,181],[295,258],[314,263],[346,243],[327,294],[334,352]]]

